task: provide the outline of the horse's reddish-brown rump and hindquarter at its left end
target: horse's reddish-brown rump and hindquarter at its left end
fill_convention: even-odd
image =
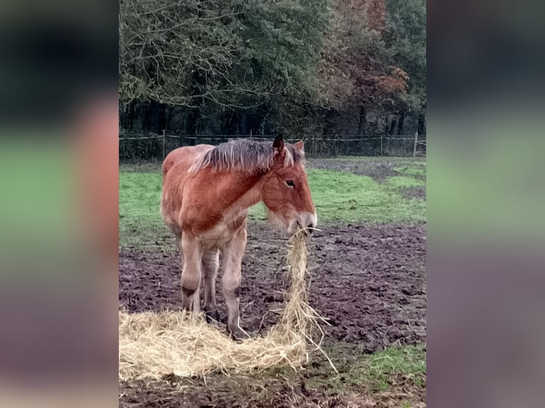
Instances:
[[[209,144],[184,146],[174,149],[163,161],[163,188],[161,194],[161,215],[166,225],[178,235],[181,227],[178,220],[182,204],[182,191],[191,165],[206,151],[213,149]]]

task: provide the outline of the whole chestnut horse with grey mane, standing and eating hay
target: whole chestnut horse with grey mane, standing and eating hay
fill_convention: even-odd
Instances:
[[[180,147],[163,162],[161,214],[181,251],[182,307],[199,311],[204,278],[204,311],[218,320],[216,275],[223,255],[223,295],[227,329],[239,325],[240,268],[246,247],[250,206],[263,201],[269,219],[288,233],[315,227],[317,218],[305,173],[303,141],[239,139],[216,147]]]

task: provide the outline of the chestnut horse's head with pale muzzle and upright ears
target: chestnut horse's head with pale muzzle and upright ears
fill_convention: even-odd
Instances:
[[[272,144],[273,163],[264,177],[262,197],[269,219],[292,234],[297,226],[316,227],[317,217],[305,173],[303,141],[285,146],[282,136]]]

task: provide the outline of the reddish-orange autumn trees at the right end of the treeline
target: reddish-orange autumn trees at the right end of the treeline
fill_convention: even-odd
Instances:
[[[398,115],[401,133],[406,114],[425,107],[425,3],[386,1],[386,23],[379,9],[376,1],[338,1],[322,55],[320,103],[357,114],[359,134],[368,112]]]

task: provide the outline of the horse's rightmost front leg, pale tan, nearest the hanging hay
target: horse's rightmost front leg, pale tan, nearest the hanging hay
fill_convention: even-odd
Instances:
[[[227,330],[235,339],[248,335],[240,328],[240,269],[246,248],[245,223],[223,249],[223,296],[228,308]]]

